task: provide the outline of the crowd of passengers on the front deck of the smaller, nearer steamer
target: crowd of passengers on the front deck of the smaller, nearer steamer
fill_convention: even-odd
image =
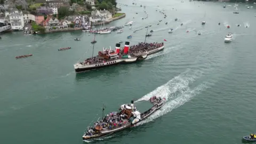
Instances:
[[[98,122],[94,123],[94,126],[89,127],[89,129],[86,131],[85,135],[94,135],[95,133],[98,133],[98,130],[95,129],[95,127],[101,127],[102,129],[108,129],[112,130],[115,129],[116,127],[121,127],[122,125],[126,124],[127,121],[124,121],[126,119],[126,115],[121,115],[118,114],[117,112],[112,112],[109,115],[105,115],[105,117]]]

